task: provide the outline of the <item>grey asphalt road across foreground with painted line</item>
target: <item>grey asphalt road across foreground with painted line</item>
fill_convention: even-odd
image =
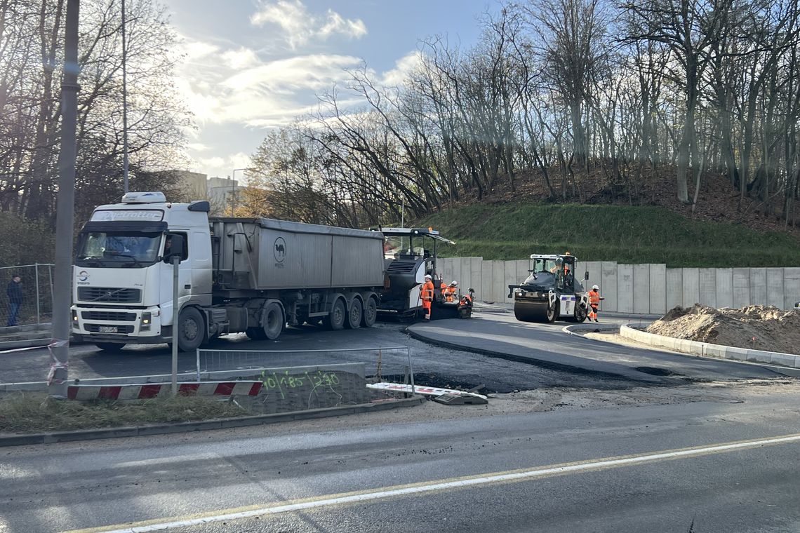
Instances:
[[[798,531],[796,389],[6,448],[0,530]]]

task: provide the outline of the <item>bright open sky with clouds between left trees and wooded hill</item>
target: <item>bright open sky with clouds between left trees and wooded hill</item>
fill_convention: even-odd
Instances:
[[[181,38],[178,90],[194,114],[191,164],[242,179],[270,129],[317,109],[317,94],[361,65],[391,85],[414,66],[418,42],[468,48],[496,0],[168,0]],[[246,181],[246,180],[245,180]]]

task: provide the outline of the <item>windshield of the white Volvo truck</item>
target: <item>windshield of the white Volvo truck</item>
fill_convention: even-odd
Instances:
[[[82,233],[75,264],[107,268],[144,268],[158,259],[161,233]]]

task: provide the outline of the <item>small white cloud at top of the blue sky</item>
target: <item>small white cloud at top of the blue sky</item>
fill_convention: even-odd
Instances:
[[[311,14],[301,0],[262,2],[250,16],[250,23],[279,26],[293,50],[314,39],[324,41],[334,35],[358,39],[366,35],[366,24],[360,18],[343,18],[330,9],[324,15]]]

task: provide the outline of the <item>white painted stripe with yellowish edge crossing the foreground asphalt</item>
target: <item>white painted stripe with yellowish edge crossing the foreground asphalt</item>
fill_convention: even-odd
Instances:
[[[517,483],[532,479],[541,479],[556,475],[578,474],[586,471],[598,471],[610,468],[628,467],[637,464],[655,463],[664,460],[688,459],[702,455],[741,451],[763,446],[794,444],[800,442],[800,433],[786,436],[774,436],[758,440],[741,440],[730,443],[714,444],[702,447],[686,447],[676,450],[656,451],[636,455],[620,455],[604,459],[588,459],[574,463],[560,463],[534,469],[518,469],[492,472],[482,475],[471,475],[451,479],[438,479],[422,483],[410,483],[383,487],[378,490],[346,492],[334,495],[323,495],[316,498],[290,500],[286,503],[275,503],[267,506],[249,506],[236,509],[214,511],[200,515],[153,519],[138,523],[117,524],[106,527],[90,527],[72,530],[67,533],[147,533],[149,531],[165,531],[178,527],[192,527],[203,524],[228,522],[230,520],[248,519],[256,516],[278,515],[293,511],[306,511],[322,507],[335,507],[351,503],[364,503],[381,499],[406,495],[418,495],[436,491],[459,490],[469,487],[481,487],[494,483]]]

